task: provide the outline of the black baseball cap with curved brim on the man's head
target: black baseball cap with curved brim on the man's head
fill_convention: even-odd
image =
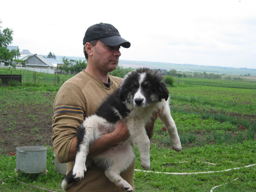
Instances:
[[[124,48],[131,46],[131,43],[123,39],[118,30],[108,23],[99,23],[90,26],[84,34],[83,45],[96,39],[109,46],[121,45]]]

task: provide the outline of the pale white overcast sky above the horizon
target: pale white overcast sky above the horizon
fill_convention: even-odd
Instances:
[[[4,0],[0,20],[33,54],[84,57],[103,22],[131,42],[120,60],[256,68],[256,0]]]

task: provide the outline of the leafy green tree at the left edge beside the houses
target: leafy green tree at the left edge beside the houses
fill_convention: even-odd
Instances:
[[[0,24],[2,21],[0,20]],[[5,66],[11,65],[15,67],[12,63],[13,58],[19,56],[19,50],[8,50],[7,45],[12,43],[13,30],[5,28],[3,31],[0,26],[0,62],[3,62]]]

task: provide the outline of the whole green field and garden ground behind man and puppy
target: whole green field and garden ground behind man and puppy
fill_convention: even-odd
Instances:
[[[54,75],[38,73],[36,86],[33,73],[27,72],[26,77],[22,86],[0,86],[0,191],[42,191],[20,180],[60,192],[63,176],[54,172],[52,163],[52,105],[57,90],[70,76],[61,75],[55,87]],[[136,191],[210,192],[221,184],[225,185],[213,191],[256,191],[256,83],[218,82],[187,79],[182,84],[177,79],[169,87],[170,108],[183,149],[171,149],[168,134],[157,120],[151,139],[151,172],[142,170],[135,148]],[[17,175],[14,171],[16,156],[9,153],[31,145],[48,148],[48,174]],[[236,167],[239,169],[233,169]]]

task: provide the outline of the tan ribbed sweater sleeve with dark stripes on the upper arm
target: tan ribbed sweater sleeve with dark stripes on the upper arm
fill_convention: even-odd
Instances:
[[[53,152],[58,162],[67,163],[76,129],[85,117],[85,102],[74,86],[63,86],[53,105]]]

